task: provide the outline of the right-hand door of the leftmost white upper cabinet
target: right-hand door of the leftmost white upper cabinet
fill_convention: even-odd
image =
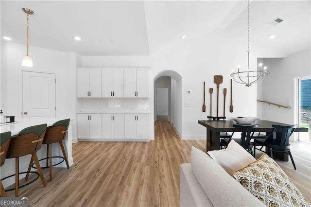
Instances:
[[[102,69],[89,69],[90,97],[102,97]]]

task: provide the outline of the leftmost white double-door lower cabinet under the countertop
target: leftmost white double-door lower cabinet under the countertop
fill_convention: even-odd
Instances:
[[[78,114],[77,115],[78,139],[101,139],[102,138],[102,115],[101,114]]]

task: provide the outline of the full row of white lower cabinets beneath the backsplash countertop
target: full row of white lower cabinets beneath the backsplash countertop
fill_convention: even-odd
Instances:
[[[77,137],[82,141],[149,139],[148,119],[148,114],[77,114]]]

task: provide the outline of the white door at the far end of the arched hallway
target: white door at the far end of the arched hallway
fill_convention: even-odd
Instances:
[[[156,116],[169,115],[169,88],[156,88]]]

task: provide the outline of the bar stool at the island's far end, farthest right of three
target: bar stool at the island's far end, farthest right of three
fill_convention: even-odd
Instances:
[[[63,144],[63,140],[66,138],[66,134],[68,131],[69,122],[70,122],[70,119],[55,122],[52,127],[47,128],[47,132],[45,133],[45,137],[43,139],[42,144],[47,145],[47,157],[40,159],[39,161],[42,161],[45,159],[47,160],[46,167],[41,167],[41,168],[43,168],[43,169],[50,168],[50,181],[52,181],[52,167],[53,166],[59,165],[60,163],[64,162],[64,160],[65,160],[66,165],[67,165],[67,169],[69,169],[68,158],[67,158],[65,147]],[[60,145],[60,149],[62,150],[63,157],[62,156],[52,156],[52,143],[56,143],[56,142],[58,142]],[[52,158],[56,158],[56,157],[62,158],[63,160],[60,161],[59,163],[52,165]],[[49,162],[48,160],[50,160],[49,166],[48,166],[48,162]],[[31,168],[36,168],[36,167],[34,167],[33,161],[34,161],[33,159],[30,160],[28,171],[30,171]],[[27,173],[25,180],[28,179],[28,176],[29,176],[29,173]]]

